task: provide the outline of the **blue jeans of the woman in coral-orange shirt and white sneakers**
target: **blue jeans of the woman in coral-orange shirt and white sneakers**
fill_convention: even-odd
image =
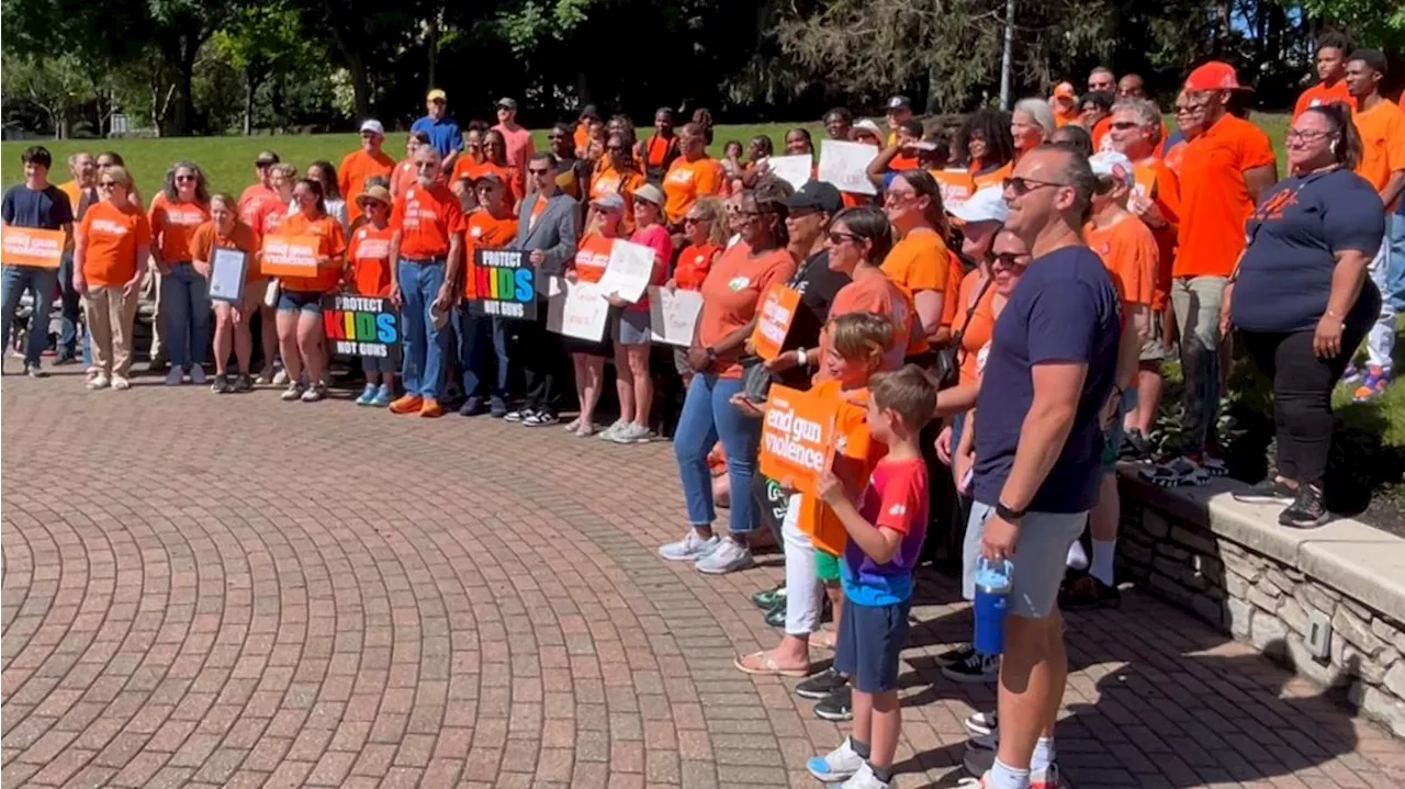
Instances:
[[[726,452],[726,482],[732,494],[726,528],[732,533],[746,533],[754,526],[752,475],[756,473],[762,421],[743,416],[729,403],[739,392],[740,379],[698,373],[693,376],[683,400],[683,414],[679,416],[679,428],[673,434],[673,453],[679,460],[688,522],[694,526],[710,526],[717,518],[707,453],[718,439]]]

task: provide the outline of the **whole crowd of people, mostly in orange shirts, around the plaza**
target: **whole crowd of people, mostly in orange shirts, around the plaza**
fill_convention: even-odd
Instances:
[[[558,423],[569,375],[575,435],[646,442],[656,416],[677,411],[687,529],[659,555],[739,571],[770,532],[785,580],[754,602],[781,637],[736,668],[802,678],[795,692],[819,701],[816,715],[853,719],[850,737],[811,761],[815,776],[891,785],[913,570],[929,538],[951,533],[968,598],[979,560],[1013,564],[1003,654],[941,658],[954,681],[999,684],[998,710],[967,720],[972,782],[1052,788],[1068,671],[1059,609],[1120,599],[1113,472],[1120,458],[1152,460],[1162,362],[1182,365],[1184,444],[1141,473],[1166,486],[1225,473],[1215,410],[1222,340],[1238,329],[1273,380],[1277,463],[1236,496],[1277,505],[1288,528],[1328,518],[1333,387],[1354,376],[1366,400],[1390,385],[1405,298],[1405,114],[1380,94],[1385,69],[1380,52],[1319,42],[1319,83],[1295,108],[1281,180],[1267,135],[1243,117],[1249,88],[1220,62],[1187,76],[1173,131],[1139,77],[1107,69],[1080,95],[1062,83],[955,129],[924,125],[901,95],[887,129],[836,108],[825,135],[877,149],[877,198],[818,173],[777,177],[773,157],[818,153],[805,128],[785,133],[781,153],[760,136],[726,142],[717,160],[705,111],[676,128],[659,110],[641,139],[628,118],[587,107],[537,152],[513,100],[497,102],[496,125],[461,128],[438,90],[403,160],[365,121],[362,147],[339,167],[316,161],[299,177],[260,154],[237,199],[209,194],[201,168],[180,161],[145,208],[115,154],[73,156],[73,180],[53,187],[49,153],[32,147],[0,223],[63,230],[72,244],[56,271],[0,268],[0,337],[21,291],[37,316],[58,296],[56,364],[81,355],[89,389],[126,389],[138,298],[153,281],[153,366],[167,385],[230,393],[257,378],[285,387],[284,400],[316,402],[329,379],[323,298],[348,291],[389,298],[403,337],[399,365],[362,361],[358,404],[438,417],[454,383],[461,414],[541,427]],[[273,237],[315,241],[313,268],[266,274]],[[610,319],[596,340],[549,330],[547,309],[516,320],[466,306],[475,250],[523,251],[541,277],[576,286],[601,281],[621,239],[653,251],[653,285],[701,296],[687,348],[652,352],[646,296],[603,296]],[[243,298],[212,309],[216,248],[250,264]],[[763,359],[752,337],[777,285],[798,306]],[[46,341],[30,331],[30,375],[42,375]],[[618,420],[601,430],[607,361]],[[681,397],[656,396],[670,380]],[[776,385],[835,409],[835,460],[809,484],[757,470]],[[822,672],[816,647],[835,650]]]

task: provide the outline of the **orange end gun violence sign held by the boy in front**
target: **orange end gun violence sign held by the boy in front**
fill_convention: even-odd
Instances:
[[[762,424],[760,472],[815,496],[835,453],[839,402],[788,386],[771,386]]]

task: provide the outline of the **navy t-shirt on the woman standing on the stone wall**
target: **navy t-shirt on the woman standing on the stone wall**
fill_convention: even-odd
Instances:
[[[1385,236],[1385,206],[1350,170],[1284,178],[1263,195],[1248,223],[1231,312],[1249,331],[1311,331],[1326,312],[1336,253],[1371,260]],[[1374,306],[1373,306],[1374,305]],[[1370,281],[1346,323],[1364,329],[1380,312]]]

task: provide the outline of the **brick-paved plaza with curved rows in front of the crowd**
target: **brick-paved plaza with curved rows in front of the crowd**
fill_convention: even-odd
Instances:
[[[62,375],[0,379],[0,475],[4,788],[812,788],[844,734],[732,668],[778,556],[655,557],[667,444]],[[934,664],[950,580],[913,615],[898,785],[948,786],[993,694]],[[1161,602],[1068,639],[1079,789],[1405,785],[1399,741]]]

